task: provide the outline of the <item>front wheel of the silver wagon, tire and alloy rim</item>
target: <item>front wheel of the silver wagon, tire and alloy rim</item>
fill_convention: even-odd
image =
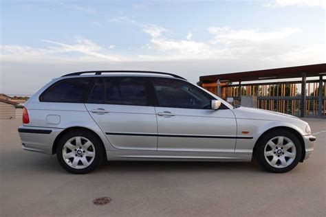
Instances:
[[[259,139],[254,149],[257,163],[268,172],[288,172],[301,159],[301,143],[289,130],[272,130]]]

